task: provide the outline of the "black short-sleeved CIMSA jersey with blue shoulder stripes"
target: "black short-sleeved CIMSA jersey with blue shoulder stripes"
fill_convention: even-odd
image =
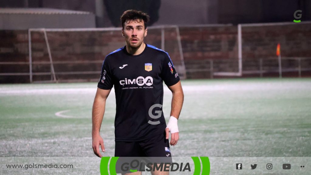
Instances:
[[[172,86],[179,76],[168,53],[152,45],[139,55],[124,46],[106,56],[97,87],[114,86],[115,141],[140,141],[165,131],[163,81]]]

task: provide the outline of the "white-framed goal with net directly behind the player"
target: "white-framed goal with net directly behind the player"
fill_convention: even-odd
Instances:
[[[104,58],[125,45],[121,28],[30,29],[30,82],[98,81]],[[185,66],[177,26],[148,27],[145,43],[169,53],[180,78]]]

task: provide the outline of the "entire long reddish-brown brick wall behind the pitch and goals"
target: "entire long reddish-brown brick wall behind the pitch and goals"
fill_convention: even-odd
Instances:
[[[210,78],[210,60],[214,72],[238,71],[237,26],[179,27],[187,78]],[[105,55],[125,45],[121,31],[47,32],[58,80],[96,81]],[[0,62],[29,62],[28,31],[0,31]],[[32,32],[34,63],[49,62],[42,32]],[[161,47],[161,30],[148,29],[147,44]],[[281,44],[282,57],[311,57],[311,24],[286,26],[242,27],[243,70],[259,70],[262,58],[264,70],[277,69],[275,55]],[[165,28],[165,51],[179,72],[182,62],[175,28]],[[269,58],[269,60],[268,60]],[[60,64],[61,61],[96,61],[95,63]],[[282,60],[284,68],[298,66],[295,60]],[[311,68],[311,61],[302,60],[302,68]],[[49,64],[33,64],[33,72],[50,72]],[[202,69],[190,72],[190,69]],[[203,71],[204,70],[204,71]],[[63,72],[95,71],[91,74]],[[28,64],[0,64],[0,73],[29,73]],[[254,75],[258,76],[258,75]],[[34,81],[50,80],[51,75],[34,75]],[[0,76],[0,83],[27,83],[29,75]]]

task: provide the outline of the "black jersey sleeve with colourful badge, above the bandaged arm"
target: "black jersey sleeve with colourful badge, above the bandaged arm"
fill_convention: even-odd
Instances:
[[[173,86],[179,82],[179,76],[174,68],[172,60],[169,58],[169,55],[166,54],[161,71],[161,78],[163,79],[166,86]]]

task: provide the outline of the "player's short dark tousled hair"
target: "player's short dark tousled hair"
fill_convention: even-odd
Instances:
[[[147,13],[144,13],[142,11],[137,11],[137,10],[127,10],[123,12],[121,15],[121,23],[122,23],[122,28],[124,29],[124,23],[130,23],[132,21],[135,22],[141,22],[142,20],[144,21],[145,29],[147,28],[147,23],[149,22],[149,15]]]

